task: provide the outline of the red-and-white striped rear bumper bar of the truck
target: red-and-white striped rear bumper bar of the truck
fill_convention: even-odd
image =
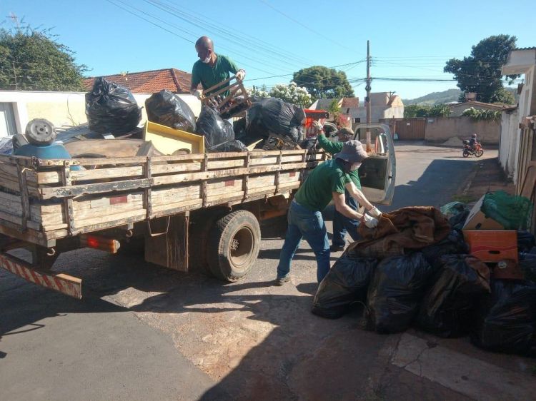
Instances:
[[[44,288],[58,291],[70,297],[82,298],[82,280],[63,273],[51,273],[43,270],[36,270],[24,260],[16,258],[7,253],[0,253],[0,267],[18,275],[24,280]]]

